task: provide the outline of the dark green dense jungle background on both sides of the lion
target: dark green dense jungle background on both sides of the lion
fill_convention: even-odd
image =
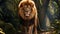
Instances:
[[[21,0],[0,0],[0,31],[6,34],[16,34],[19,30],[20,19],[18,17],[18,4]],[[44,21],[47,15],[51,31],[60,34],[60,0],[34,0],[39,17],[38,30],[47,28]],[[42,18],[43,17],[43,18]],[[41,27],[41,28],[40,28]],[[22,28],[22,27],[21,27]]]

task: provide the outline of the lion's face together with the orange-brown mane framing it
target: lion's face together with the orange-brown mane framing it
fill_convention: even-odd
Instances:
[[[30,20],[34,17],[35,11],[34,11],[34,4],[33,3],[22,3],[19,9],[19,15],[24,20]]]

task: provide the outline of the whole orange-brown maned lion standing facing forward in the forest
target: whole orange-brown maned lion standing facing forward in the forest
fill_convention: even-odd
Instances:
[[[22,0],[18,5],[24,34],[37,34],[38,14],[33,0]],[[32,33],[33,32],[33,33]]]

